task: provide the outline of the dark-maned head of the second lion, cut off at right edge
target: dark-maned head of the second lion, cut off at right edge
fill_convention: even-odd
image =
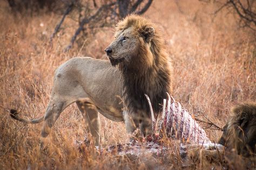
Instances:
[[[245,157],[256,154],[256,103],[239,104],[224,126],[219,143]]]

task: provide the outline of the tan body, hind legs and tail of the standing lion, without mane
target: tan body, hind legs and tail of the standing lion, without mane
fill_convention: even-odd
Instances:
[[[19,117],[15,110],[11,110],[11,116],[23,123],[44,121],[41,136],[45,138],[60,113],[76,102],[96,139],[96,145],[99,145],[98,112],[113,121],[123,121],[123,105],[118,97],[122,94],[120,79],[119,71],[109,61],[73,58],[57,68],[50,102],[43,117],[27,120]]]

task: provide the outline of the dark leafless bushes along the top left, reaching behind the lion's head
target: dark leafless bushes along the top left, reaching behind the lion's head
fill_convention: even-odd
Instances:
[[[87,37],[89,32],[95,32],[97,29],[107,26],[113,26],[118,19],[123,18],[130,13],[141,15],[149,9],[153,0],[7,0],[10,8],[16,15],[21,13],[23,16],[38,13],[40,9],[46,11],[62,13],[62,19],[56,25],[50,37],[50,44],[59,31],[60,26],[64,22],[66,16],[73,11],[73,20],[79,24],[76,32],[70,40],[70,44],[65,48],[68,51],[77,36],[83,32],[83,36]],[[75,17],[74,17],[75,16]]]

